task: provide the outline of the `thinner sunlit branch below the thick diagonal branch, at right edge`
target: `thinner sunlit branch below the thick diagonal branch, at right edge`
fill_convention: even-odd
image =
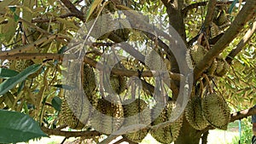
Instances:
[[[236,45],[235,49],[232,49],[230,54],[226,57],[226,61],[231,64],[232,60],[234,60],[235,56],[244,48],[244,46],[249,42],[253,34],[255,34],[256,30],[256,21],[253,22],[251,28],[247,31],[247,33],[242,37],[241,41]]]

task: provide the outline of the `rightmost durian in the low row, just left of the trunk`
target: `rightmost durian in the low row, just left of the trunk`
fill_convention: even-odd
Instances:
[[[160,109],[154,107],[152,110],[153,118],[155,115],[158,115],[160,112],[159,117],[153,119],[152,125],[161,124],[170,120],[170,118],[175,114],[172,113],[174,107],[176,107],[172,101],[168,101],[166,107],[160,112]],[[171,143],[172,141],[176,141],[177,136],[179,135],[180,128],[183,124],[183,117],[178,118],[169,126],[159,129],[150,130],[150,134],[154,137],[156,141],[161,143]]]

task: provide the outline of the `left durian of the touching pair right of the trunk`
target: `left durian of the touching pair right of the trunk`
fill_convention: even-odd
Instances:
[[[189,100],[185,108],[185,117],[195,130],[203,130],[209,125],[202,114],[201,98],[199,96],[193,96]]]

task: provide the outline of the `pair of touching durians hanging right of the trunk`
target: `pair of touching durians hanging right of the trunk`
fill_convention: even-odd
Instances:
[[[210,125],[227,130],[230,107],[221,95],[213,92],[204,96],[192,95],[185,108],[185,117],[195,130],[204,130]]]

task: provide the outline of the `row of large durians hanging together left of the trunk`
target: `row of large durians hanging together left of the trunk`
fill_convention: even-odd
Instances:
[[[76,67],[72,68],[76,69]],[[157,106],[151,109],[143,99],[135,98],[120,101],[117,95],[107,95],[101,98],[96,96],[96,79],[93,68],[84,64],[81,71],[84,72],[82,82],[85,96],[81,96],[82,94],[78,92],[78,89],[65,90],[66,93],[61,104],[61,124],[67,124],[75,130],[90,128],[105,135],[110,135],[121,128],[134,126],[128,133],[124,133],[123,137],[135,142],[143,141],[148,133],[162,143],[170,143],[177,139],[183,117],[178,118],[165,128],[148,130],[142,127],[142,129],[137,129],[137,125],[141,124],[157,125],[169,121],[173,117],[173,108],[176,107],[174,102],[167,102],[166,107],[162,107],[162,109]],[[124,86],[124,79],[110,77],[110,81],[113,81],[110,84],[115,93],[124,92],[120,88],[115,88]],[[116,81],[119,81],[119,85],[115,84]],[[86,102],[86,99],[89,102]]]

